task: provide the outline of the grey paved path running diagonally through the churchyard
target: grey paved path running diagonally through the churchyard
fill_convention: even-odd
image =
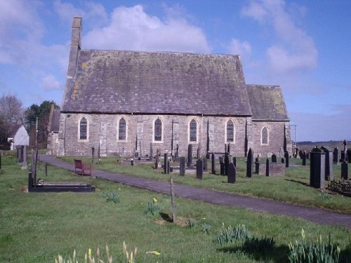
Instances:
[[[40,161],[44,161],[45,163],[63,168],[65,170],[74,171],[73,164],[60,161],[59,159],[55,159],[53,156],[41,155]],[[127,184],[133,187],[170,194],[170,184],[164,181],[132,177],[119,173],[110,173],[103,170],[93,170],[93,175],[95,177]],[[199,200],[206,203],[213,203],[216,205],[235,206],[275,215],[300,217],[320,224],[343,225],[348,229],[351,229],[351,215],[331,212],[320,208],[310,208],[267,199],[238,196],[236,194],[227,194],[220,191],[190,187],[184,184],[175,184],[175,194],[176,196]]]

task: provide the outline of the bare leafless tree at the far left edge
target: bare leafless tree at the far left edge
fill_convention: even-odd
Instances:
[[[22,102],[12,94],[0,97],[0,144],[7,145],[7,138],[14,124],[22,122]]]

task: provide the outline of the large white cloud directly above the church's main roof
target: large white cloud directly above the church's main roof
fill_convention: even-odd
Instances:
[[[184,18],[160,20],[148,15],[143,6],[118,7],[110,25],[88,32],[83,45],[97,49],[168,50],[208,53],[206,36]]]

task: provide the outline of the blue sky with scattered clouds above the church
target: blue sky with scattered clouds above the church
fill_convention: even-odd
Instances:
[[[61,104],[72,20],[81,48],[241,55],[282,87],[291,138],[351,140],[349,0],[0,0],[0,95]]]

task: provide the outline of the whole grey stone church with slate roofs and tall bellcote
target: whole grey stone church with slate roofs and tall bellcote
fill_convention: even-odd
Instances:
[[[246,84],[239,55],[84,50],[81,18],[53,143],[60,156],[291,153],[281,88]]]

